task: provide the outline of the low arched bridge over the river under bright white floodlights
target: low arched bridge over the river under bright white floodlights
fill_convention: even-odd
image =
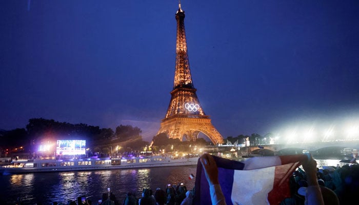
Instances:
[[[273,152],[274,154],[300,154],[303,150],[310,153],[331,152],[340,154],[344,148],[359,150],[359,140],[337,140],[322,142],[299,142],[292,144],[260,144],[249,147],[241,147],[241,150],[249,153]]]

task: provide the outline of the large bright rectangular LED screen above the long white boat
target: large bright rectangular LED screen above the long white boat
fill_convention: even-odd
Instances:
[[[86,140],[57,140],[57,155],[83,155],[86,154]]]

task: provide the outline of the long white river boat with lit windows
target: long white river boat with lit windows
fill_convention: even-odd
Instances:
[[[11,165],[0,167],[0,174],[189,166],[197,165],[197,161],[198,157],[178,158],[168,155],[121,158],[18,159],[13,160]]]

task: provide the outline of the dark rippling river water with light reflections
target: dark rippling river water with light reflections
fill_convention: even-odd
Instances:
[[[318,167],[342,165],[339,161],[317,159]],[[67,203],[85,195],[92,204],[97,204],[110,188],[122,203],[129,191],[140,197],[143,188],[166,189],[168,183],[183,182],[192,189],[195,178],[190,180],[190,174],[196,174],[196,166],[5,175],[0,176],[0,202],[14,202],[19,197],[24,204],[48,205],[53,201]]]

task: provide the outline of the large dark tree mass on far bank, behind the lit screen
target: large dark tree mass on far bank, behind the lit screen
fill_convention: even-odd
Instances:
[[[36,145],[42,141],[56,141],[57,139],[84,139],[87,147],[103,147],[128,141],[133,149],[139,149],[149,144],[142,140],[142,130],[130,125],[119,125],[115,131],[111,128],[99,128],[87,124],[70,124],[53,119],[32,118],[26,128],[6,131],[0,130],[0,151],[23,148],[24,152],[33,152]]]

